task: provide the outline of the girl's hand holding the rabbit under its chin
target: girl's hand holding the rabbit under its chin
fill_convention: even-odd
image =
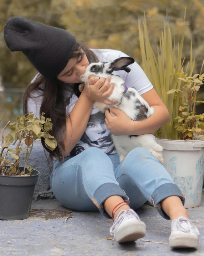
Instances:
[[[114,84],[110,85],[111,77],[99,78],[91,77],[85,84],[82,91],[83,95],[90,101],[101,101],[107,105],[117,103],[117,101],[109,101],[106,97],[110,96],[114,89]]]

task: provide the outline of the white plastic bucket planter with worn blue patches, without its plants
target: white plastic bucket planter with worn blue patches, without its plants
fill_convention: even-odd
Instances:
[[[157,139],[163,146],[164,167],[182,193],[185,208],[200,206],[204,174],[204,140]]]

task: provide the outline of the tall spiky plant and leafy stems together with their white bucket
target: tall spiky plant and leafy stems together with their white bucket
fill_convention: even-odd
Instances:
[[[164,167],[185,193],[185,208],[201,203],[204,174],[204,113],[196,115],[196,103],[204,74],[194,74],[195,58],[190,47],[190,62],[184,72],[182,51],[184,30],[178,49],[172,44],[168,23],[159,37],[157,57],[148,38],[147,24],[139,23],[143,69],[169,111],[169,121],[155,134],[163,146]],[[204,64],[204,62],[203,62]],[[187,74],[187,71],[189,74]]]

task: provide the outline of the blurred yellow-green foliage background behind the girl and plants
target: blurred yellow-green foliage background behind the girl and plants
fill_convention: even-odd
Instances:
[[[172,40],[180,42],[185,8],[183,57],[189,61],[192,40],[195,74],[200,73],[204,59],[204,0],[0,0],[0,118],[4,112],[0,128],[23,115],[22,95],[37,73],[24,54],[6,47],[3,27],[7,19],[21,16],[67,29],[91,47],[121,50],[142,66],[138,19],[142,22],[146,14],[149,38],[157,55],[164,21],[170,24]],[[204,100],[204,88],[199,100]],[[202,106],[197,107],[197,113],[204,112]]]

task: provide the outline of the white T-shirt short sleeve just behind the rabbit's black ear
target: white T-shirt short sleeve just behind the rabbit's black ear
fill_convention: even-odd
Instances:
[[[121,52],[119,57],[129,57],[127,54]],[[143,69],[139,66],[137,62],[128,66],[131,71],[127,73],[126,71],[119,71],[121,78],[124,80],[127,87],[134,87],[140,95],[145,92],[152,90],[153,85],[147,78]]]

